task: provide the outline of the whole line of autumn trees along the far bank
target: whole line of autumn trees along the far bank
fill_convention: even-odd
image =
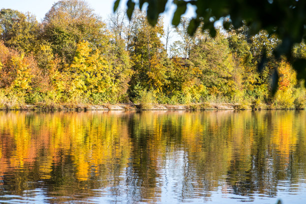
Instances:
[[[2,8],[0,25],[0,106],[305,104],[303,81],[296,80],[285,57],[273,55],[281,40],[264,30],[250,35],[246,25],[215,28],[215,37],[198,28],[190,36],[186,18],[176,27],[164,27],[159,17],[151,26],[140,10],[130,20],[117,10],[102,21],[83,0],[54,3],[42,22],[31,13]],[[305,44],[295,44],[292,52],[305,58]],[[278,81],[275,94],[273,80]]]

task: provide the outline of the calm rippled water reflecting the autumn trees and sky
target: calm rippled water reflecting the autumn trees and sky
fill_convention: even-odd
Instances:
[[[306,203],[306,111],[0,112],[0,203]]]

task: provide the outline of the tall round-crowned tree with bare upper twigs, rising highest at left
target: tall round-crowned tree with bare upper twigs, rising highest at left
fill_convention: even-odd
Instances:
[[[103,45],[105,24],[83,0],[60,0],[43,19],[44,39],[52,44],[64,63],[73,60],[76,44],[86,40],[92,46]]]

